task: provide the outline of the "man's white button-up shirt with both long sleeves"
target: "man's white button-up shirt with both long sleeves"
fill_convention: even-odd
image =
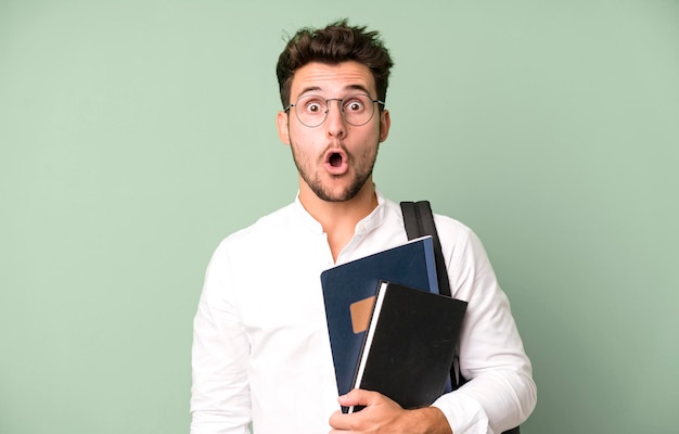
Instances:
[[[407,241],[399,206],[377,201],[337,265]],[[435,219],[451,292],[469,302],[460,365],[473,381],[434,405],[456,434],[500,433],[535,407],[530,362],[481,242]],[[192,434],[245,434],[251,422],[256,434],[330,431],[340,406],[320,273],[334,265],[298,200],[217,247],[194,320]]]

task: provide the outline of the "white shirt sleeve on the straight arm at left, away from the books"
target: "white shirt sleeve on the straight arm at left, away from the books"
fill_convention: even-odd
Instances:
[[[225,243],[207,267],[193,323],[191,434],[247,434],[249,344],[229,292]]]

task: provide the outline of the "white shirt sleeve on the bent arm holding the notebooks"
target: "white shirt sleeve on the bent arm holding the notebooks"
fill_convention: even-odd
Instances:
[[[434,406],[454,434],[499,434],[535,408],[530,360],[481,240],[459,222],[437,218],[452,295],[469,303],[459,345],[460,371],[469,381]]]

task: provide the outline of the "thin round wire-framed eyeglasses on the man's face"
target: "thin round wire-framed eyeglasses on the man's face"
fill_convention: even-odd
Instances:
[[[321,125],[328,117],[329,103],[331,101],[340,101],[342,117],[355,127],[366,125],[372,119],[375,113],[375,103],[384,106],[383,101],[373,100],[369,95],[361,93],[343,99],[331,98],[328,100],[318,95],[304,95],[295,104],[286,106],[285,112],[295,107],[297,119],[307,127],[315,128]]]

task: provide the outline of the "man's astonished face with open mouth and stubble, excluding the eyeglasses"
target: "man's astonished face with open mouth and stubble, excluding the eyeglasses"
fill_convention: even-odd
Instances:
[[[355,94],[377,99],[370,69],[357,62],[309,63],[295,72],[291,87],[293,104],[307,95],[342,100]],[[292,148],[300,190],[309,189],[323,201],[342,202],[358,194],[366,182],[372,182],[379,143],[386,140],[389,130],[388,112],[380,112],[377,103],[372,104],[368,108],[374,114],[361,126],[345,120],[340,101],[328,103],[328,116],[317,127],[300,123],[295,110],[303,107],[279,113],[279,135]]]

